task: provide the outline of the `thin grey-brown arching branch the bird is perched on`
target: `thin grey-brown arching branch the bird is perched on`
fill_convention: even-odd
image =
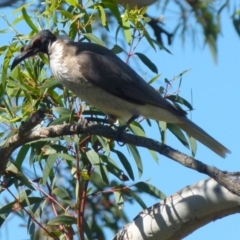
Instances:
[[[89,123],[85,119],[82,119],[78,124],[64,124],[38,128],[34,131],[29,132],[28,135],[25,134],[25,137],[22,137],[20,134],[16,134],[13,137],[9,138],[8,141],[2,146],[0,151],[0,173],[2,174],[5,171],[8,158],[10,157],[12,152],[19,146],[22,146],[32,141],[36,141],[38,139],[61,137],[64,135],[82,133],[95,134],[110,138],[118,142],[128,143],[135,146],[154,150],[184,165],[185,167],[191,168],[200,173],[207,174],[208,176],[215,179],[218,183],[226,187],[230,192],[240,196],[240,183],[234,182],[234,180],[229,179],[227,172],[223,172],[216,167],[211,167],[207,164],[204,164],[190,156],[187,156],[186,154],[183,154],[153,139],[135,136],[127,133],[119,134],[119,132],[114,131],[109,126]]]

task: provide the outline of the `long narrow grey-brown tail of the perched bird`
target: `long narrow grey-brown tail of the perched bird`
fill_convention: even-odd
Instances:
[[[226,154],[230,153],[230,151],[226,147],[224,147],[220,142],[211,137],[203,129],[198,127],[191,120],[184,118],[183,121],[181,123],[177,123],[177,125],[188,135],[210,148],[219,156],[225,158]]]

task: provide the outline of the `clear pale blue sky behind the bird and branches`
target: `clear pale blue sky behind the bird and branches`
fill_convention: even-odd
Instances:
[[[11,10],[4,9],[4,12],[8,16]],[[156,13],[154,6],[149,9],[149,13],[152,13],[152,15]],[[182,45],[180,38],[176,37],[171,47],[173,55],[164,51],[154,52],[144,44],[140,44],[137,51],[143,52],[150,57],[158,67],[159,73],[162,74],[154,85],[156,87],[164,86],[164,78],[171,79],[184,70],[191,69],[183,76],[180,93],[182,97],[189,101],[192,99],[195,110],[189,117],[232,151],[226,159],[221,159],[205,146],[198,144],[196,158],[221,170],[239,171],[240,111],[238,96],[240,89],[240,39],[233,28],[230,15],[231,12],[227,11],[224,11],[222,15],[223,31],[222,36],[218,40],[217,64],[214,63],[208,47],[204,46],[201,34],[199,34],[199,44],[195,48],[192,45],[191,38],[186,39],[185,44]],[[166,24],[171,26],[171,21],[173,19],[167,18]],[[0,19],[0,26],[5,28],[5,23],[2,19]],[[24,29],[25,31],[28,31],[27,28]],[[11,39],[11,37],[8,39],[8,36],[6,35],[5,39],[0,39],[0,45],[7,43]],[[153,76],[150,70],[143,65],[136,67],[135,60],[137,61],[138,59],[133,58],[130,61],[131,66],[137,71],[141,70],[140,72],[143,72],[144,78],[149,80]],[[159,134],[156,134],[156,132],[156,129],[148,128],[147,135],[158,140]],[[171,134],[168,134],[167,144],[189,154],[188,150],[182,147],[181,143]],[[151,184],[157,186],[168,196],[187,185],[207,178],[207,176],[187,169],[161,155],[159,155],[159,164],[157,164],[147,150],[141,149],[141,154],[144,162],[144,174],[140,180],[146,181],[150,179]],[[135,176],[137,176],[134,163],[133,166]],[[146,195],[143,195],[142,199],[147,206],[151,206],[158,201]],[[0,202],[2,202],[1,196]],[[124,210],[128,212],[129,218],[133,219],[141,211],[141,208],[137,204],[134,204],[134,206],[126,204]],[[239,239],[240,228],[237,225],[239,222],[240,216],[235,214],[200,228],[186,239]],[[12,240],[16,236],[21,240],[29,239],[26,230],[18,227],[18,224],[18,220],[11,220],[8,225],[3,225],[0,230],[0,239]],[[14,231],[12,231],[12,226],[14,226]],[[8,238],[6,238],[6,233]]]

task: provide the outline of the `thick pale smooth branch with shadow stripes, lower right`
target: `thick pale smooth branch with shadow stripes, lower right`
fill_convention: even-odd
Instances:
[[[239,175],[228,178],[240,182]],[[239,213],[239,204],[239,196],[206,179],[144,209],[113,240],[183,239],[211,221]]]

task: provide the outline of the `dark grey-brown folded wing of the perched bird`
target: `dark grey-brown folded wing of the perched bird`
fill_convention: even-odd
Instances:
[[[116,55],[92,51],[78,53],[79,70],[92,84],[135,104],[151,104],[179,116],[186,112],[176,108],[149,86],[132,68]]]

